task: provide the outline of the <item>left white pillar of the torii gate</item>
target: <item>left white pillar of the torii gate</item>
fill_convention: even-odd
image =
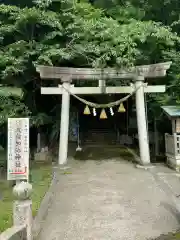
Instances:
[[[65,89],[70,89],[71,79],[69,77],[63,77],[61,79],[63,91],[62,91],[62,103],[61,103],[61,123],[60,123],[60,137],[59,137],[59,165],[65,165],[67,163],[68,155],[68,136],[69,136],[69,112],[70,112],[70,94]]]

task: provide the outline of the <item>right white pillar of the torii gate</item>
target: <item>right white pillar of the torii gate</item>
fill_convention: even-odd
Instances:
[[[139,138],[141,164],[150,164],[150,150],[147,130],[146,109],[144,101],[144,77],[138,76],[135,80],[136,91],[136,116]]]

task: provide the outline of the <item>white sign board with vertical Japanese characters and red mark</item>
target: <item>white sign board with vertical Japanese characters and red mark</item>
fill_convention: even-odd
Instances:
[[[29,118],[8,118],[8,180],[28,180]]]

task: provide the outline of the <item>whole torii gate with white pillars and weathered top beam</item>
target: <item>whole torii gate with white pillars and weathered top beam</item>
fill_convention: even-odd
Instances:
[[[165,92],[165,86],[147,86],[145,79],[164,77],[170,66],[171,62],[165,62],[136,66],[127,70],[119,71],[111,68],[105,68],[102,70],[91,68],[37,66],[36,70],[40,73],[41,79],[59,79],[62,82],[62,85],[58,85],[57,87],[41,87],[41,94],[62,94],[59,164],[63,165],[67,163],[70,93],[77,95],[102,93],[119,94],[132,93],[134,90],[136,90],[136,114],[141,164],[149,164],[150,152],[144,93]],[[71,84],[73,80],[88,81],[90,79],[99,80],[99,87],[74,87],[74,85]],[[106,87],[105,80],[107,79],[132,79],[133,83],[127,87]]]

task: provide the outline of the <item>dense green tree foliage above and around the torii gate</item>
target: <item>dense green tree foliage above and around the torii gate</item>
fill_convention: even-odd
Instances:
[[[0,84],[20,87],[23,99],[1,98],[0,124],[31,116],[38,126],[53,114],[40,98],[36,64],[122,68],[173,61],[166,94],[151,108],[179,103],[178,0],[4,0],[0,4]],[[52,102],[57,100],[52,97]],[[13,108],[12,108],[13,105]],[[46,106],[45,106],[46,105]],[[56,109],[56,108],[55,108]]]

